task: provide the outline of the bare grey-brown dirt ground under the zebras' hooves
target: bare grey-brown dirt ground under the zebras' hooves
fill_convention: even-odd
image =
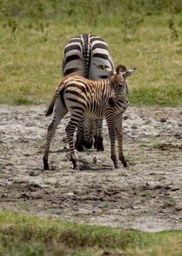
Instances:
[[[144,231],[182,228],[182,108],[130,107],[124,153],[130,167],[114,169],[104,122],[105,152],[79,153],[72,169],[62,120],[43,170],[45,106],[0,109],[1,208]],[[97,162],[97,163],[94,163]]]

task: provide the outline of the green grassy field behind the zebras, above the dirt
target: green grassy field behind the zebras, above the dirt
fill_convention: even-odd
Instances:
[[[0,102],[50,101],[68,39],[97,34],[138,67],[131,105],[181,105],[181,0],[0,0]]]

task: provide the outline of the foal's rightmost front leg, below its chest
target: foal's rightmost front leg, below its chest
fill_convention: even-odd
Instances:
[[[123,118],[123,115],[119,114],[116,117],[116,119],[115,119],[116,131],[117,131],[117,140],[118,140],[118,151],[119,151],[119,159],[120,159],[121,163],[123,163],[124,167],[128,167],[129,164],[125,160],[124,154],[123,154],[123,126],[122,126],[122,118]]]

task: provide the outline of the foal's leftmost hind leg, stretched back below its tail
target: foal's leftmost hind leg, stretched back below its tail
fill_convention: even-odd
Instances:
[[[58,99],[56,100],[56,103],[55,103],[55,113],[53,116],[53,120],[47,129],[46,145],[45,145],[44,156],[43,156],[44,170],[49,170],[48,156],[49,156],[50,142],[52,140],[52,137],[55,134],[56,127],[58,126],[61,119],[65,116],[67,111],[68,111],[67,108],[65,108],[64,105],[62,105],[62,101],[58,96]]]

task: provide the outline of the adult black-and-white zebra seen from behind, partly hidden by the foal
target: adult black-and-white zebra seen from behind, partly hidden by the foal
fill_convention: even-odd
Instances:
[[[114,63],[109,54],[106,42],[93,34],[81,34],[70,39],[64,48],[62,60],[62,74],[64,76],[80,75],[90,80],[108,78],[106,70],[96,68],[96,65],[104,65],[114,70]],[[93,146],[97,151],[103,151],[102,119],[96,121],[83,117],[77,127],[75,147],[78,151]]]

